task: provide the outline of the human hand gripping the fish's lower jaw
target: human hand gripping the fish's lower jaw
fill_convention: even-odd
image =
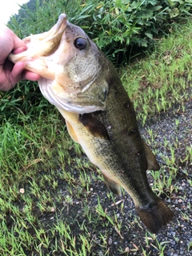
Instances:
[[[12,30],[0,25],[0,90],[10,90],[22,79],[38,81],[41,78],[39,74],[25,70],[24,62],[14,64],[7,59],[10,52],[19,54],[26,49],[26,44]]]

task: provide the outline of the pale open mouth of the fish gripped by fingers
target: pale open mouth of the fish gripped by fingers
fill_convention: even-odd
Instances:
[[[40,74],[43,78],[54,80],[54,70],[49,67],[47,58],[58,50],[68,25],[66,14],[60,14],[58,22],[46,32],[31,34],[23,38],[28,49],[20,54],[9,54],[11,62],[22,61],[26,63],[26,70]]]

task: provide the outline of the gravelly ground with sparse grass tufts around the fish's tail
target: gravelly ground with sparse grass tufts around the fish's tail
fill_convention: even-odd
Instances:
[[[144,128],[140,126],[142,137],[157,152],[158,161],[162,166],[162,173],[159,175],[159,182],[161,180],[164,184],[162,190],[159,190],[157,180],[156,183],[154,182],[155,173],[149,171],[150,185],[174,211],[174,219],[158,234],[150,234],[146,230],[128,194],[123,193],[122,197],[115,198],[109,192],[101,174],[98,174],[94,166],[91,170],[86,167],[84,170],[90,178],[88,189],[85,185],[81,191],[78,191],[79,188],[73,186],[73,182],[69,184],[65,180],[58,179],[56,190],[62,195],[63,201],[58,202],[53,191],[52,200],[55,201],[55,205],[52,211],[42,214],[39,208],[34,206],[37,223],[41,223],[53,243],[58,239],[60,248],[63,245],[64,251],[72,250],[72,242],[74,242],[75,251],[79,250],[79,255],[190,256],[192,254],[192,165],[191,158],[186,159],[186,149],[191,150],[191,130],[191,98],[185,103],[185,108],[174,106],[174,109],[166,113],[149,118]],[[72,159],[79,158],[74,153],[73,147],[69,150]],[[165,166],[165,158],[170,158],[169,166]],[[81,156],[81,161],[89,162],[84,154]],[[62,170],[58,168],[57,171]],[[81,178],[78,169],[71,169],[69,165],[67,171],[71,174],[73,172],[74,179]],[[176,172],[176,175],[170,183],[171,171]],[[22,210],[24,207],[22,201],[18,202],[18,205]],[[12,215],[8,214],[6,218],[7,226],[10,227],[13,226]],[[50,234],[53,226],[57,227],[56,231]],[[34,227],[31,226],[30,229],[30,234],[35,238]],[[84,253],[82,244],[85,246]],[[42,246],[41,254],[39,251],[34,248],[25,249],[26,255],[70,255],[70,252],[52,250],[51,242],[49,246]],[[77,254],[71,253],[71,255]]]

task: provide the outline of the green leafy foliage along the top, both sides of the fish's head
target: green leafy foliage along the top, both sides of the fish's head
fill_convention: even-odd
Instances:
[[[70,22],[81,26],[111,60],[118,62],[119,54],[126,54],[130,46],[150,46],[154,38],[169,32],[173,22],[187,19],[192,0],[37,0],[36,11],[30,9],[26,6],[19,12],[19,26],[25,31],[22,36],[49,30],[65,12]]]

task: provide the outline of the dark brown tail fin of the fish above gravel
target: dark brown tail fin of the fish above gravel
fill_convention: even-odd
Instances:
[[[153,233],[158,233],[162,226],[166,226],[174,213],[160,198],[153,205],[136,207],[142,222]]]

